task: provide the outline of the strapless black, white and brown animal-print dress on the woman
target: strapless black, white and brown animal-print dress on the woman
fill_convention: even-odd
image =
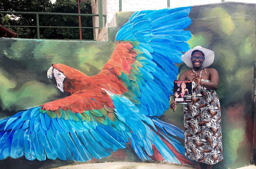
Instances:
[[[184,105],[186,156],[216,164],[223,160],[219,97],[215,91],[192,83],[193,103]]]

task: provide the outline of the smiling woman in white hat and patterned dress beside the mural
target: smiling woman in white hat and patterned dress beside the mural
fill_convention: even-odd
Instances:
[[[185,152],[196,161],[198,169],[202,163],[207,169],[223,160],[220,101],[215,90],[219,74],[210,66],[214,60],[213,51],[197,46],[182,56],[183,62],[192,69],[182,73],[179,80],[192,80],[193,102],[184,105]],[[172,100],[170,107],[176,110]]]

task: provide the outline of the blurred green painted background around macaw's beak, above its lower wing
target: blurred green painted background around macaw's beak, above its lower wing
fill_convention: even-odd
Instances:
[[[93,76],[115,48],[113,43],[73,40],[2,38],[0,44],[0,118],[64,97],[46,76],[52,63]]]

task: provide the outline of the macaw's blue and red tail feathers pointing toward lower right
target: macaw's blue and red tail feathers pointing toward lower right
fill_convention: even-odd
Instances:
[[[143,161],[164,160],[177,164],[193,163],[185,157],[185,148],[174,136],[184,138],[184,132],[172,124],[140,112],[132,101],[112,94],[118,117],[132,130],[131,144],[136,154]],[[160,158],[159,158],[160,157]]]

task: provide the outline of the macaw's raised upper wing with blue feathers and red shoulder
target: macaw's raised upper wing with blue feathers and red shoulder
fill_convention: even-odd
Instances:
[[[103,70],[127,88],[124,96],[141,112],[160,116],[169,107],[182,51],[191,38],[191,7],[135,12],[116,35],[116,49]],[[102,71],[103,71],[102,70]],[[97,76],[97,75],[96,75]]]

